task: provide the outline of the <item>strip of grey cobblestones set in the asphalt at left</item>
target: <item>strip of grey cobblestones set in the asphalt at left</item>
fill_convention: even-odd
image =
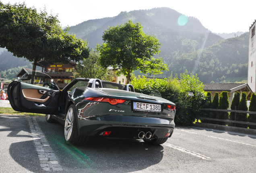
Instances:
[[[41,168],[44,171],[63,171],[35,117],[30,116],[28,119]]]

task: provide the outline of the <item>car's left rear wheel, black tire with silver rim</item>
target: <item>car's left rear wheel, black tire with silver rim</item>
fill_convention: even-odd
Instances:
[[[78,135],[77,115],[75,113],[74,105],[70,105],[66,112],[64,139],[68,145],[84,145],[86,143],[86,136]]]

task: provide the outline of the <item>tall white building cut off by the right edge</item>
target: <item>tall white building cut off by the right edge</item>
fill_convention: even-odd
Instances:
[[[253,92],[256,91],[256,36],[255,36],[254,20],[252,26],[249,29],[249,58],[248,58],[248,85]]]

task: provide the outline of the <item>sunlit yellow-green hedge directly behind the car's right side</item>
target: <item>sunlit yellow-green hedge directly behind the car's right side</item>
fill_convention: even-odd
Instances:
[[[192,125],[200,114],[200,108],[206,103],[206,93],[203,84],[197,75],[187,72],[177,76],[164,79],[147,79],[145,76],[132,78],[130,84],[138,93],[150,94],[157,90],[162,97],[176,104],[175,124]],[[188,96],[188,91],[194,96]]]

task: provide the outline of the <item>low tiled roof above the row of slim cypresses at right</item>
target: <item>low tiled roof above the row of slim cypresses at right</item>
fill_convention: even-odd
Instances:
[[[204,84],[204,91],[230,91],[235,92],[247,87],[251,91],[247,83],[224,83],[224,84]]]

